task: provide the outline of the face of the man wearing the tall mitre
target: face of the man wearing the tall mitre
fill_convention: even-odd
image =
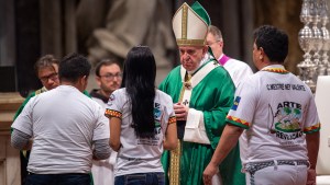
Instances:
[[[180,62],[187,71],[196,70],[205,54],[207,53],[206,46],[179,46]]]

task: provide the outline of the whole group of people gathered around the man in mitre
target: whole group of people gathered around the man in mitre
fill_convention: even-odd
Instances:
[[[22,183],[316,183],[320,123],[310,89],[284,68],[288,35],[272,25],[255,30],[253,73],[223,54],[221,31],[197,1],[177,10],[173,31],[180,65],[158,88],[148,46],[131,48],[123,67],[98,62],[99,89],[90,93],[86,57],[36,61],[43,88],[12,124]]]

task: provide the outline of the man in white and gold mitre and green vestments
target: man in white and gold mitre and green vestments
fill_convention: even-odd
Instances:
[[[178,147],[164,151],[162,164],[166,184],[202,185],[209,164],[233,104],[234,83],[228,71],[207,53],[206,36],[210,18],[196,1],[184,3],[173,18],[173,31],[180,54],[180,66],[160,85],[174,101]],[[215,183],[243,185],[239,144],[219,166]]]

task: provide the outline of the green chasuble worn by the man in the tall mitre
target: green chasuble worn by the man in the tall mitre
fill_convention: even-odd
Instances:
[[[182,70],[184,70],[182,68],[182,66],[178,66],[173,69],[160,85],[160,90],[169,94],[174,103],[179,101],[183,79],[185,79],[182,77]],[[201,72],[201,70],[198,69],[195,74],[198,72]],[[215,66],[215,69],[207,73],[193,89],[189,107],[202,112],[207,136],[211,144],[182,142],[179,185],[204,184],[202,172],[209,164],[227,124],[226,116],[233,104],[234,90],[234,84],[229,73],[221,66]],[[170,164],[169,151],[164,151],[162,163],[165,174],[168,175]],[[219,170],[223,185],[245,184],[245,174],[241,173],[239,144],[226,158]],[[168,184],[167,177],[166,184]]]

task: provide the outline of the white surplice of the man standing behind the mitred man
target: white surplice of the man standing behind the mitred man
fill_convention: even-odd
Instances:
[[[223,54],[220,56],[218,60],[223,57]],[[239,86],[240,82],[244,80],[246,77],[252,76],[253,71],[249,65],[243,61],[230,58],[224,65],[223,68],[230,74],[232,81],[235,84],[235,88]]]

